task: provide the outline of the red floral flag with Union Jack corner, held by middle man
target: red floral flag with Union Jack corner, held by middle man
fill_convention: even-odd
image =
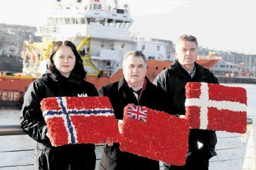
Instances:
[[[124,108],[119,149],[174,165],[186,163],[188,120],[129,104]]]

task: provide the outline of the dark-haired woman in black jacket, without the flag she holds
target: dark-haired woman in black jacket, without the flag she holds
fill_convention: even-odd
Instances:
[[[98,96],[95,86],[85,81],[82,59],[73,42],[53,45],[47,73],[28,86],[21,109],[21,127],[37,141],[34,169],[95,169],[95,145],[52,147],[40,102],[57,96]]]

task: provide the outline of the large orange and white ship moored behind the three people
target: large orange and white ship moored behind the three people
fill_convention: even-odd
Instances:
[[[100,86],[122,77],[122,59],[130,50],[146,56],[146,77],[150,81],[174,61],[171,40],[144,38],[131,33],[133,18],[129,1],[55,0],[47,23],[35,33],[40,42],[23,42],[23,68],[20,73],[0,74],[0,106],[21,106],[28,85],[46,73],[53,43],[70,40],[80,53],[86,80]],[[213,69],[221,57],[198,56],[198,64]]]

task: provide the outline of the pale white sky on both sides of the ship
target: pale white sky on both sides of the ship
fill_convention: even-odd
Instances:
[[[40,26],[53,0],[1,1],[0,23]],[[132,33],[172,40],[184,33],[199,46],[256,54],[255,0],[130,0]]]

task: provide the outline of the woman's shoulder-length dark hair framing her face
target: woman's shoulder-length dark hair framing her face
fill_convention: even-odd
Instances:
[[[52,51],[52,54],[50,55],[50,65],[47,69],[47,72],[48,73],[58,72],[58,69],[55,67],[55,64],[53,63],[53,57],[62,45],[70,47],[71,50],[73,51],[74,55],[75,55],[75,67],[72,70],[71,74],[80,75],[80,77],[85,79],[86,72],[85,72],[85,69],[84,69],[83,64],[82,64],[82,58],[79,55],[78,50],[76,49],[73,42],[68,41],[68,40],[54,42],[53,51]]]

